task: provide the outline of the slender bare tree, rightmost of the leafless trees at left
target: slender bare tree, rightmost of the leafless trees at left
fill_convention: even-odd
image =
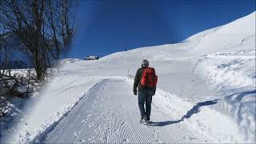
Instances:
[[[56,46],[56,55],[59,58],[62,53],[66,53],[70,49],[70,44],[74,38],[76,31],[74,9],[77,2],[70,0],[48,0],[46,2],[46,18],[52,31],[51,38]],[[63,45],[60,45],[62,42]]]

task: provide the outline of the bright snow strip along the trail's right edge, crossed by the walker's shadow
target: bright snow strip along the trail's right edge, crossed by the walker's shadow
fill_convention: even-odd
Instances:
[[[183,123],[197,131],[198,134],[208,136],[207,142],[243,142],[240,137],[236,137],[239,135],[239,130],[234,120],[209,107],[203,107],[214,105],[218,100],[198,102],[194,105],[192,102],[161,89],[157,90],[153,99],[154,105],[166,112],[166,115],[170,115],[170,118],[177,120],[183,118]],[[223,127],[228,129],[223,129]]]

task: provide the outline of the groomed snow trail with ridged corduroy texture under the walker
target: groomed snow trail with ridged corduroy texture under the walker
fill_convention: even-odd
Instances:
[[[46,143],[207,142],[207,138],[184,123],[175,122],[155,105],[152,105],[152,125],[140,124],[138,96],[131,91],[131,86],[123,79],[99,82],[66,117],[42,136],[42,140]]]

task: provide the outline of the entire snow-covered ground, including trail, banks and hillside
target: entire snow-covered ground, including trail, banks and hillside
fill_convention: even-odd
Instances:
[[[250,142],[255,140],[255,12],[181,43],[96,61],[65,59],[2,142]],[[134,74],[158,74],[152,125],[139,124]],[[24,113],[25,114],[25,113]],[[170,137],[172,135],[172,137]]]

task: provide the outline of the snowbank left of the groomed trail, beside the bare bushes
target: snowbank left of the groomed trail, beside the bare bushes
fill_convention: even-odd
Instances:
[[[101,81],[101,78],[58,75],[41,92],[40,97],[34,99],[34,106],[25,110],[30,115],[18,123],[16,133],[9,138],[2,138],[3,142],[32,141],[63,118],[83,96],[86,96],[92,86]]]

